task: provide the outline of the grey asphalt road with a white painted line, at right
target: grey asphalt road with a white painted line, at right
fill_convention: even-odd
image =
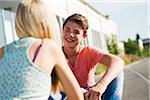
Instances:
[[[126,66],[123,100],[150,100],[150,58]]]

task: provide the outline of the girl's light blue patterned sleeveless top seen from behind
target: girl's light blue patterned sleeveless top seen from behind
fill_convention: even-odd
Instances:
[[[0,59],[1,100],[13,98],[47,100],[49,97],[50,72],[45,72],[39,67],[42,64],[41,61],[38,62],[39,58],[35,60],[37,64],[31,59],[34,55],[32,51],[34,45],[40,43],[35,41],[34,38],[25,38],[4,47],[4,54]]]

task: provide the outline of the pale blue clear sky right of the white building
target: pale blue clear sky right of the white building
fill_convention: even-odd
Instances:
[[[104,15],[109,15],[118,27],[118,39],[150,38],[150,1],[148,0],[85,0]]]

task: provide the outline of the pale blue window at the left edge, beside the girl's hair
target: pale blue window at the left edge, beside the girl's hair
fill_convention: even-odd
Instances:
[[[0,8],[0,46],[18,39],[14,28],[15,13],[11,8]]]

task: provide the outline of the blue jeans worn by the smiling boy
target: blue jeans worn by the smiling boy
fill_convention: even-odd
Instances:
[[[124,73],[122,72],[107,86],[106,91],[101,97],[102,100],[122,100],[123,85]],[[59,92],[51,95],[48,100],[66,100],[66,95],[63,92]]]

